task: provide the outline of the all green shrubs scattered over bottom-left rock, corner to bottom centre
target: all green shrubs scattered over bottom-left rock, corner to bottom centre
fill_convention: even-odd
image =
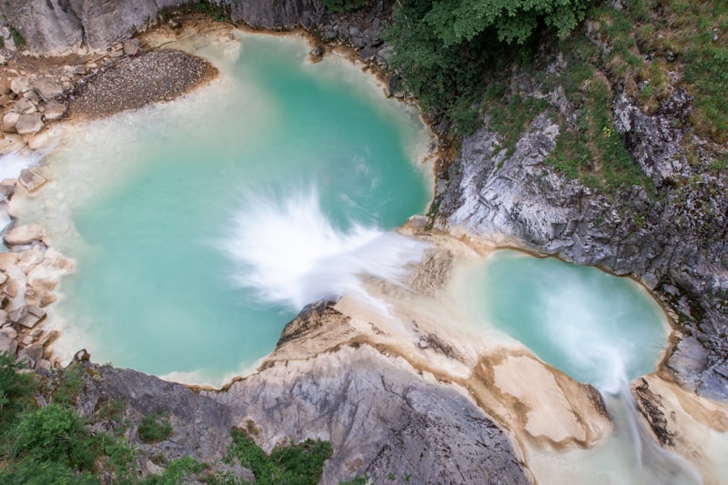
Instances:
[[[73,364],[51,378],[40,378],[19,372],[21,367],[13,357],[0,354],[0,483],[90,485],[100,483],[102,476],[126,485],[172,485],[189,478],[210,485],[247,483],[188,456],[167,462],[156,455],[152,460],[164,472],[139,478],[140,452],[124,438],[134,424],[125,419],[124,403],[106,400],[86,419],[74,409],[84,379],[98,378],[93,368]],[[48,403],[39,406],[38,399]],[[138,423],[139,439],[147,443],[167,440],[173,432],[165,416],[149,414]],[[225,461],[239,460],[259,484],[318,483],[331,455],[329,442],[307,440],[279,447],[268,456],[242,431],[233,430],[232,436]]]

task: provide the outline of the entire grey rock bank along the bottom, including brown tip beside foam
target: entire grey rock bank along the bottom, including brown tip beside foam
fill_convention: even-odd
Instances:
[[[155,456],[170,461],[188,455],[215,471],[230,429],[237,427],[267,452],[307,439],[328,440],[333,454],[324,464],[323,484],[356,477],[387,483],[392,476],[422,484],[532,482],[512,436],[467,389],[369,344],[342,344],[340,338],[352,335],[348,322],[329,305],[308,308],[284,330],[286,338],[258,372],[218,391],[196,393],[135,370],[98,366],[80,351],[71,364],[83,369],[76,409],[97,429],[110,430],[114,424],[97,419],[98,411],[123,402],[126,440],[136,444],[136,467],[143,474],[160,471],[152,463]],[[339,345],[323,351],[303,345],[309,352],[292,357],[312,335],[332,328],[336,333],[337,327],[346,328],[331,341]],[[52,392],[60,375],[41,374]],[[173,434],[167,440],[138,442],[138,423],[149,414],[168,417]]]

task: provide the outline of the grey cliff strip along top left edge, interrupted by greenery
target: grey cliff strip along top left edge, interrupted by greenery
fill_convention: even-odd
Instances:
[[[54,56],[86,46],[106,49],[144,30],[164,10],[190,0],[7,0],[0,14],[25,39],[31,53]],[[318,0],[215,0],[235,22],[252,27],[313,27],[324,15]]]

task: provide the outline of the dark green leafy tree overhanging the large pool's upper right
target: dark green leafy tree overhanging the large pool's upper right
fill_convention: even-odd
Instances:
[[[569,35],[590,0],[402,0],[385,37],[391,64],[420,103],[450,117],[460,132],[476,126],[481,82],[543,26]]]

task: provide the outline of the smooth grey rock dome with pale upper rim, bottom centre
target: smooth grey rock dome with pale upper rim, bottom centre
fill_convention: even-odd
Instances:
[[[388,475],[412,483],[529,483],[509,437],[464,389],[420,376],[368,345],[277,362],[210,397],[270,450],[282,440],[330,440],[322,483]]]

